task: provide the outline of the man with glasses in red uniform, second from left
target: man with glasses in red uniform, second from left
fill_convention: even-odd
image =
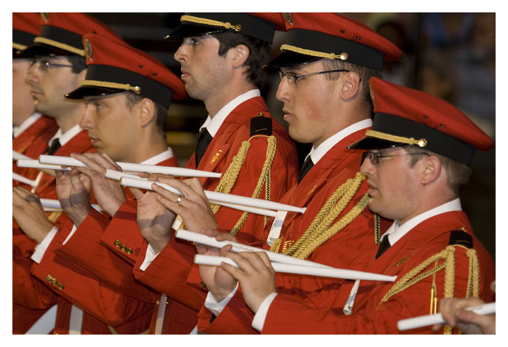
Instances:
[[[123,42],[123,40],[107,26],[84,14],[43,13],[41,23],[41,33],[34,39],[35,44],[24,50],[21,55],[35,56],[34,66],[29,70],[26,80],[31,84],[36,110],[53,117],[59,126],[57,132],[57,135],[61,135],[59,141],[51,141],[54,146],[48,148],[48,153],[69,155],[72,152],[95,151],[90,145],[86,132],[81,131],[78,124],[84,104],[66,101],[63,94],[79,87],[79,83],[85,76],[85,52],[82,44],[84,34],[94,31],[117,42]],[[61,146],[58,147],[59,145]],[[47,146],[48,144],[45,145]],[[41,198],[56,198],[54,176],[42,173],[39,175],[37,195]],[[34,246],[37,243],[43,244],[43,247],[38,247],[39,250],[47,247],[58,230],[53,222],[56,220],[59,226],[65,224],[66,215],[54,212],[48,219],[41,205],[34,198],[30,197],[26,191],[13,189],[13,216],[23,230],[30,234],[29,237],[24,234],[23,236],[32,242],[35,240],[31,249],[26,250],[28,258],[13,261],[13,279],[16,298],[20,301],[27,300],[31,303],[43,304],[48,302],[47,298],[43,297],[43,294],[48,293],[47,287],[30,275],[33,261],[29,259],[29,256],[34,253]],[[44,240],[46,242],[43,242]],[[54,295],[51,291],[49,294]],[[59,299],[59,308],[63,309],[63,306],[68,306],[71,311],[71,304]],[[63,316],[58,313],[57,317]],[[94,319],[91,316],[88,319],[88,316],[83,314],[83,318],[83,331],[93,331],[94,327],[97,327],[97,324],[93,325]],[[91,322],[91,325],[87,326],[88,322]],[[109,332],[107,326],[104,324],[103,326],[105,329],[101,331]],[[50,330],[51,328],[45,332]],[[58,333],[63,332],[65,331],[58,330]]]

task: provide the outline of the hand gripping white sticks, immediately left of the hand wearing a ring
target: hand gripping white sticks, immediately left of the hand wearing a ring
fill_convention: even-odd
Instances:
[[[156,181],[162,175],[141,172],[139,176]],[[129,189],[138,202],[137,219],[141,235],[150,243],[155,253],[159,253],[171,239],[171,227],[176,215],[159,202],[157,193],[143,193],[134,187]]]

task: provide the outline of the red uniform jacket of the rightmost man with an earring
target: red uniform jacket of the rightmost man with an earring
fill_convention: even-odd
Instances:
[[[440,253],[450,243],[455,244],[455,241],[451,241],[451,231],[459,228],[464,228],[471,236],[472,247],[478,256],[479,296],[486,302],[492,302],[494,293],[490,290],[490,283],[495,278],[494,264],[486,249],[474,236],[467,216],[462,211],[446,212],[425,220],[406,233],[377,260],[375,259],[376,251],[370,255],[364,254],[358,260],[355,268],[391,276],[396,275],[396,281],[398,281],[410,270]],[[465,297],[468,290],[472,251],[468,250],[467,246],[456,246],[454,249],[455,273],[452,295]],[[443,264],[443,262],[443,260],[439,260],[438,264]],[[423,267],[417,275],[434,267],[435,262],[431,262],[427,267]],[[444,297],[444,274],[445,270],[442,269],[435,276],[438,299]],[[432,282],[433,276],[430,275],[383,301],[382,299],[394,286],[394,283],[361,281],[351,316],[342,314],[342,307],[351,291],[353,281],[344,281],[337,291],[332,290],[328,293],[331,305],[316,304],[314,295],[317,293],[312,293],[306,299],[277,295],[270,305],[262,332],[266,334],[400,333],[397,329],[399,320],[430,313]],[[438,303],[436,307],[439,307]],[[424,327],[402,333],[431,333],[430,328]]]

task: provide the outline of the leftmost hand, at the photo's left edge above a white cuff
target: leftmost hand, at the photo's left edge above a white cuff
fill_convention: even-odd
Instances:
[[[12,216],[23,232],[38,243],[53,229],[39,197],[22,187],[12,188]]]

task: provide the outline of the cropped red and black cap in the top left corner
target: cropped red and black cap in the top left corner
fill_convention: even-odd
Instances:
[[[12,57],[21,58],[21,51],[34,43],[41,31],[41,21],[35,12],[12,13]]]

